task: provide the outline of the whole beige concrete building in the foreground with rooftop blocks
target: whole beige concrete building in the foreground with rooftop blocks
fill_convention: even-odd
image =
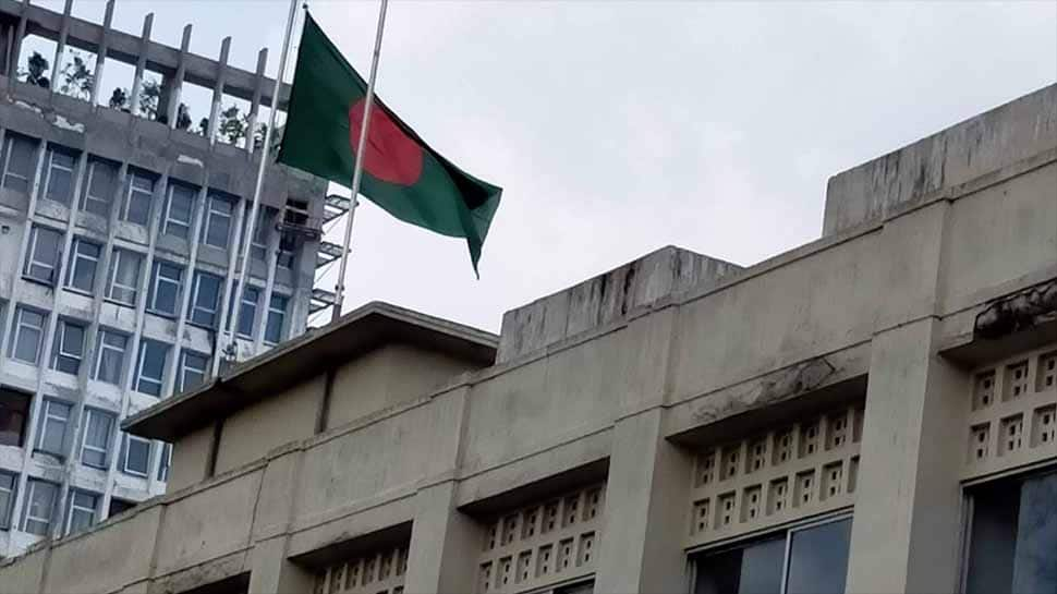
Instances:
[[[0,591],[1053,592],[1057,85],[826,199],[744,269],[666,248],[501,337],[372,304],[141,411],[168,492]]]

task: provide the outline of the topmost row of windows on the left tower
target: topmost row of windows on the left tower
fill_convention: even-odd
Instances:
[[[0,159],[0,184],[3,187],[28,193],[33,178],[34,141],[9,134],[3,145],[3,157]],[[74,151],[61,147],[49,146],[45,155],[44,193],[47,199],[69,206],[73,197],[73,186],[77,168],[77,157]],[[155,186],[158,177],[142,170],[132,170],[129,181],[120,197],[121,220],[147,227],[151,220]],[[102,159],[88,160],[87,181],[81,195],[81,208],[109,218],[111,202],[118,185],[118,165]],[[158,216],[161,219],[161,233],[183,240],[190,240],[194,221],[198,190],[192,185],[170,183],[166,199],[160,206]],[[221,250],[227,250],[231,241],[232,217],[238,197],[210,191],[205,205],[205,221],[198,241]],[[269,225],[268,220],[276,216],[272,208],[263,208],[254,226],[254,237],[251,253],[257,259],[264,259],[267,253]],[[243,222],[245,234],[245,221]],[[278,263],[283,267],[293,264],[292,246],[280,243]]]

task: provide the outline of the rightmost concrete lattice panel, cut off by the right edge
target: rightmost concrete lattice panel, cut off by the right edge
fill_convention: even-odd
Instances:
[[[1057,457],[1055,346],[976,369],[969,390],[963,478]]]

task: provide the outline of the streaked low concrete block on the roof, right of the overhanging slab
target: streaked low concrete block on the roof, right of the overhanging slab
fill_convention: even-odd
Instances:
[[[502,316],[497,363],[619,319],[635,307],[740,270],[729,262],[667,246],[511,310]]]

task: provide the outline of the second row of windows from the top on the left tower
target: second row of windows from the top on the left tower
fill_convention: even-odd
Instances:
[[[62,258],[61,245],[61,231],[39,226],[31,229],[23,276],[28,280],[56,286],[56,276]],[[94,293],[99,277],[102,246],[78,237],[74,238],[71,251],[63,284],[73,291]],[[143,254],[114,247],[106,278],[105,295],[108,300],[130,307],[136,306],[144,259]],[[150,270],[150,283],[147,287],[147,311],[166,317],[177,316],[183,286],[189,277],[191,275],[186,274],[184,266],[162,259],[156,260]],[[187,311],[187,320],[215,328],[219,318],[223,279],[217,275],[196,270],[190,284],[191,307]],[[239,312],[240,335],[252,337],[259,301],[260,289],[245,286]],[[230,305],[233,306],[233,302],[232,293]],[[266,342],[278,343],[281,340],[288,302],[289,298],[284,295],[271,296],[265,326]],[[230,329],[230,322],[228,329]]]

